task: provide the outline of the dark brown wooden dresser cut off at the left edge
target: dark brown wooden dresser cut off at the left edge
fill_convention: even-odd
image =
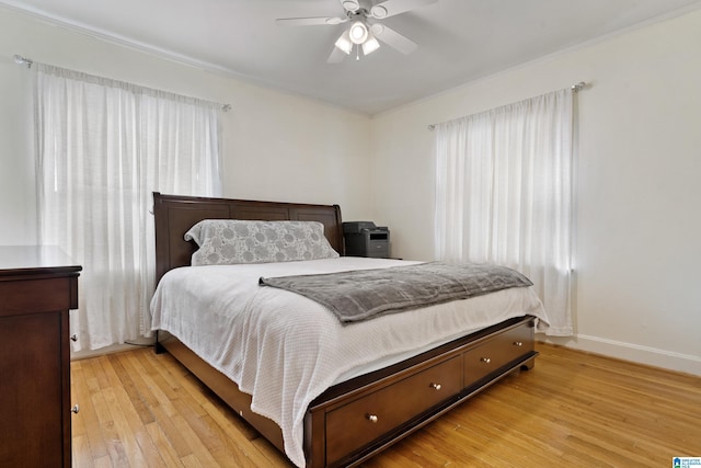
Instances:
[[[0,246],[0,466],[71,466],[68,310],[76,265],[60,249]]]

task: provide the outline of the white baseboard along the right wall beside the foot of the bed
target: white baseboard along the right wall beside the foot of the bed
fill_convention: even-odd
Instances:
[[[545,336],[537,339],[544,343],[559,344],[573,350],[611,356],[669,370],[701,376],[701,357],[639,344],[607,340],[598,336],[578,334],[572,338]]]

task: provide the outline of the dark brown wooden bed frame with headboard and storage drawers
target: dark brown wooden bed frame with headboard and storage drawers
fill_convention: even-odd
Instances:
[[[203,219],[317,220],[341,254],[337,205],[255,202],[153,193],[156,281],[189,265],[194,243],[183,239]],[[304,418],[307,467],[355,466],[416,431],[507,374],[535,364],[535,319],[506,320],[389,367],[329,388]],[[253,413],[251,397],[176,338],[157,332],[157,352],[168,351],[227,404],[284,450],[280,429]]]

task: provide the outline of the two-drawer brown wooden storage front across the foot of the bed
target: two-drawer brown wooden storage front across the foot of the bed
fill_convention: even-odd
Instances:
[[[325,466],[378,443],[437,406],[452,406],[535,354],[532,320],[456,350],[447,359],[325,413]],[[450,401],[448,401],[450,400]]]

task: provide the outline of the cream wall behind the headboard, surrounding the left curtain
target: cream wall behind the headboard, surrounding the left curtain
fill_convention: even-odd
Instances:
[[[369,216],[370,119],[50,25],[0,7],[0,244],[32,244],[36,197],[31,72],[12,57],[229,103],[223,113],[225,196],[338,204]],[[7,227],[12,226],[12,229]]]

